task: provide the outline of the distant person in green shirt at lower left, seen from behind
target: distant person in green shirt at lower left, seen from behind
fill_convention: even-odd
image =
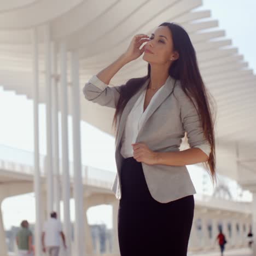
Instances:
[[[27,220],[22,220],[21,228],[16,235],[18,256],[32,255],[32,232],[28,226]]]

